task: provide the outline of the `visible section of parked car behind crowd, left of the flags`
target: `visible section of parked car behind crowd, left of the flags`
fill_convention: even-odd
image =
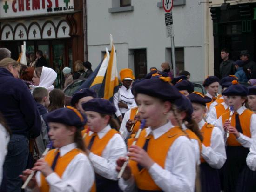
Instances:
[[[66,86],[65,89],[63,89],[63,92],[65,94],[65,105],[66,106],[70,105],[70,100],[71,100],[72,96],[77,91],[79,86],[81,86],[83,84],[83,82],[85,82],[85,81],[86,81],[86,79],[76,79],[72,83],[70,83],[68,86]]]

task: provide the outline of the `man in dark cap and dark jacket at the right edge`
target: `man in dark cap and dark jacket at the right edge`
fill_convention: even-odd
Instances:
[[[250,60],[250,53],[248,50],[243,50],[240,53],[240,59],[244,62],[244,67],[247,69],[248,79],[256,79],[256,63]]]

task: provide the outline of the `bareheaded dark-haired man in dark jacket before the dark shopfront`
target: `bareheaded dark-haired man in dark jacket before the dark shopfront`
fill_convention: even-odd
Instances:
[[[229,59],[229,51],[227,49],[224,48],[221,50],[221,58],[223,61],[220,64],[220,78],[222,79],[223,77],[234,75],[234,61]]]

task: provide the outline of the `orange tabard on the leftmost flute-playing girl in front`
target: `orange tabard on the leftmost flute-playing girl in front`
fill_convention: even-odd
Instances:
[[[47,153],[47,155],[45,157],[45,161],[48,163],[49,166],[51,166],[53,164],[53,161],[54,161],[54,158],[55,158],[57,152],[58,152],[58,150],[55,151],[55,149],[53,149]],[[84,152],[81,151],[80,149],[75,148],[75,149],[72,149],[67,154],[65,154],[64,156],[62,156],[62,157],[59,156],[54,172],[61,178],[62,174],[65,171],[65,169],[67,168],[68,164],[79,153],[84,153]],[[45,180],[45,177],[43,176],[43,174],[41,174],[40,192],[49,192],[49,189],[50,189],[50,187],[49,187],[47,181]]]

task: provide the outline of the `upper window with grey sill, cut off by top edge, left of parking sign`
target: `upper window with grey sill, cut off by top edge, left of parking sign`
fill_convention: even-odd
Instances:
[[[109,13],[118,13],[133,11],[131,0],[112,0],[112,7],[108,9]]]

